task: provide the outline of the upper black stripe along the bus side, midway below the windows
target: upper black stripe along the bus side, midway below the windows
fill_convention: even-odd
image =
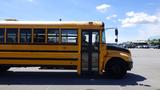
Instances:
[[[69,53],[78,53],[78,51],[61,51],[61,50],[0,50],[0,52],[69,52]]]

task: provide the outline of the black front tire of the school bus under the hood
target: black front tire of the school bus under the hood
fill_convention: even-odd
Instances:
[[[109,78],[120,79],[127,73],[127,64],[119,58],[110,60],[105,67],[105,75]]]

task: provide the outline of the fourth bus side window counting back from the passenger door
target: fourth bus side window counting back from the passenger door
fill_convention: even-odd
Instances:
[[[20,29],[20,43],[31,43],[32,29]]]

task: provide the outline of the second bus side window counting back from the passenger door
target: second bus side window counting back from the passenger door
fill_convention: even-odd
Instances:
[[[59,42],[59,30],[58,29],[48,29],[48,43],[58,43]]]

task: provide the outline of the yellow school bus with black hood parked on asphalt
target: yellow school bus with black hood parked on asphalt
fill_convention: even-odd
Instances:
[[[129,50],[107,45],[100,21],[0,21],[0,71],[38,66],[123,77]]]

